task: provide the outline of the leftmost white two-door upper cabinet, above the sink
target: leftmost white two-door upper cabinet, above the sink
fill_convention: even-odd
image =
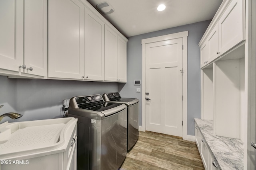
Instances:
[[[47,0],[1,0],[0,16],[0,68],[46,76]]]

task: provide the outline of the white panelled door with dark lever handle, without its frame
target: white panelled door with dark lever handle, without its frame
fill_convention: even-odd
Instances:
[[[146,130],[182,137],[182,38],[146,44]]]

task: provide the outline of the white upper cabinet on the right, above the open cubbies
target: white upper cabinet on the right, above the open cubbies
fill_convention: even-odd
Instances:
[[[226,0],[199,43],[201,68],[245,40],[244,0]],[[205,52],[206,56],[205,56]]]

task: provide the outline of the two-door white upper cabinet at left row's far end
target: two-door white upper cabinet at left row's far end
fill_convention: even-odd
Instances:
[[[105,80],[126,82],[126,40],[105,25]]]

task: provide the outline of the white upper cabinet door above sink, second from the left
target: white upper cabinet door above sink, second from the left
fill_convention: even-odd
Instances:
[[[24,1],[24,64],[24,72],[47,76],[47,0]]]

